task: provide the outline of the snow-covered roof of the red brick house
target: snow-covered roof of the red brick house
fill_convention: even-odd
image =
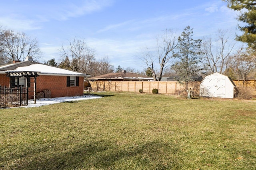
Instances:
[[[5,74],[7,71],[32,71],[40,72],[40,75],[52,76],[83,76],[89,77],[88,74],[83,74],[76,71],[66,70],[55,66],[50,66],[35,61],[21,61],[18,63],[5,64],[0,66],[0,74]]]

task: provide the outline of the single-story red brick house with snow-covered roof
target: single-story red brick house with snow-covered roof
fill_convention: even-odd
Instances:
[[[35,62],[32,57],[0,66],[0,86],[28,87],[29,98],[34,98],[34,89],[37,98],[83,95],[84,77],[89,76]]]

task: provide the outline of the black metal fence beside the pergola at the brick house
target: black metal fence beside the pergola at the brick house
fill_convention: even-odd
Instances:
[[[0,86],[0,107],[18,107],[28,105],[28,88],[6,88]]]

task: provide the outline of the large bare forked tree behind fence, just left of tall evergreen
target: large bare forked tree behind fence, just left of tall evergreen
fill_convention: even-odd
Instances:
[[[173,52],[176,47],[175,34],[172,30],[166,29],[163,35],[157,39],[157,54],[154,55],[148,48],[144,51],[144,56],[141,59],[146,64],[147,69],[152,72],[154,81],[161,80],[163,70],[170,65],[169,61],[174,57]],[[157,66],[158,64],[159,66]]]

